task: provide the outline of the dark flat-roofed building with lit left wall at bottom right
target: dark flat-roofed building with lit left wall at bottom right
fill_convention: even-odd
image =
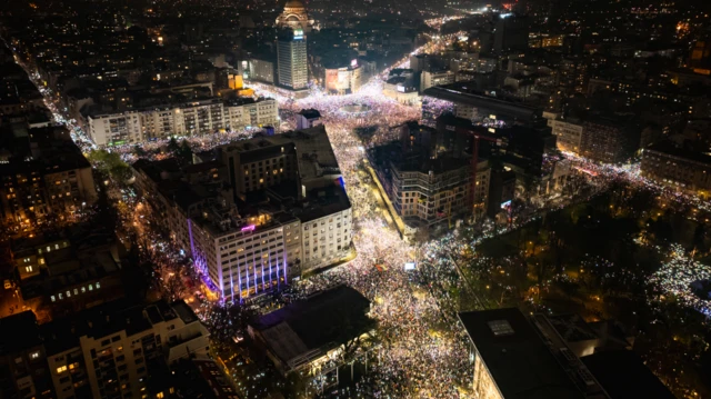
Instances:
[[[618,322],[585,322],[578,315],[530,318],[519,309],[460,313],[474,356],[478,398],[674,396],[632,350]]]

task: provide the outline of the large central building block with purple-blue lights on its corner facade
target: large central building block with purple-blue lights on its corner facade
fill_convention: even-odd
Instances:
[[[228,300],[351,253],[351,206],[323,126],[223,146],[182,169],[167,160],[133,168],[173,240]]]

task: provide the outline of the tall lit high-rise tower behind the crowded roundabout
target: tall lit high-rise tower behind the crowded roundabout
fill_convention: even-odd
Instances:
[[[279,86],[306,90],[309,84],[307,37],[303,30],[282,29],[277,37],[277,72]]]

